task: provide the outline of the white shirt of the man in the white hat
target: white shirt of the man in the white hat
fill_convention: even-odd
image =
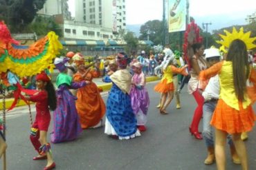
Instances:
[[[213,76],[210,78],[210,81],[208,82],[208,85],[205,87],[205,90],[203,91],[203,98],[205,101],[211,100],[212,98],[217,99],[219,98],[219,75]]]

